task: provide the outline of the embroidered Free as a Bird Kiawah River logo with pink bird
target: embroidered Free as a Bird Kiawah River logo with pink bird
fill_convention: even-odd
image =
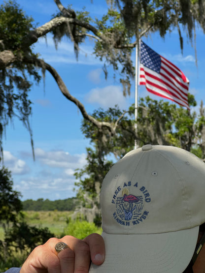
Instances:
[[[118,187],[112,198],[115,204],[115,212],[113,217],[120,225],[137,225],[146,219],[149,212],[144,211],[144,202],[151,202],[149,192],[144,186],[138,188],[138,183],[133,186],[138,188],[138,194],[133,195],[130,192],[132,182],[125,182],[123,187]],[[136,191],[135,191],[136,192]]]

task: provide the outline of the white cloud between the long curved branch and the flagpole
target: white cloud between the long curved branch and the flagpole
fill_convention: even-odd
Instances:
[[[85,97],[91,104],[98,104],[103,108],[114,107],[116,104],[120,108],[126,108],[127,100],[123,96],[121,86],[107,86],[104,88],[92,89]]]

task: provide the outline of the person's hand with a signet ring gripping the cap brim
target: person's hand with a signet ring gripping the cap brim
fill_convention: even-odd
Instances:
[[[68,244],[60,253],[56,243]],[[101,265],[104,261],[104,241],[101,235],[93,233],[83,240],[72,236],[51,238],[38,245],[24,262],[20,273],[88,273],[90,262]]]

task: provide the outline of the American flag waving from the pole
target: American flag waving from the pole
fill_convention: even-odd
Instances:
[[[189,109],[189,80],[173,63],[157,54],[141,41],[139,85],[147,91],[171,99]]]

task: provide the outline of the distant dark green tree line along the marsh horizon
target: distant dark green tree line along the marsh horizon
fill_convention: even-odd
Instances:
[[[22,202],[24,211],[73,211],[78,205],[75,197],[50,201],[49,199],[39,198],[37,200],[28,199]]]

